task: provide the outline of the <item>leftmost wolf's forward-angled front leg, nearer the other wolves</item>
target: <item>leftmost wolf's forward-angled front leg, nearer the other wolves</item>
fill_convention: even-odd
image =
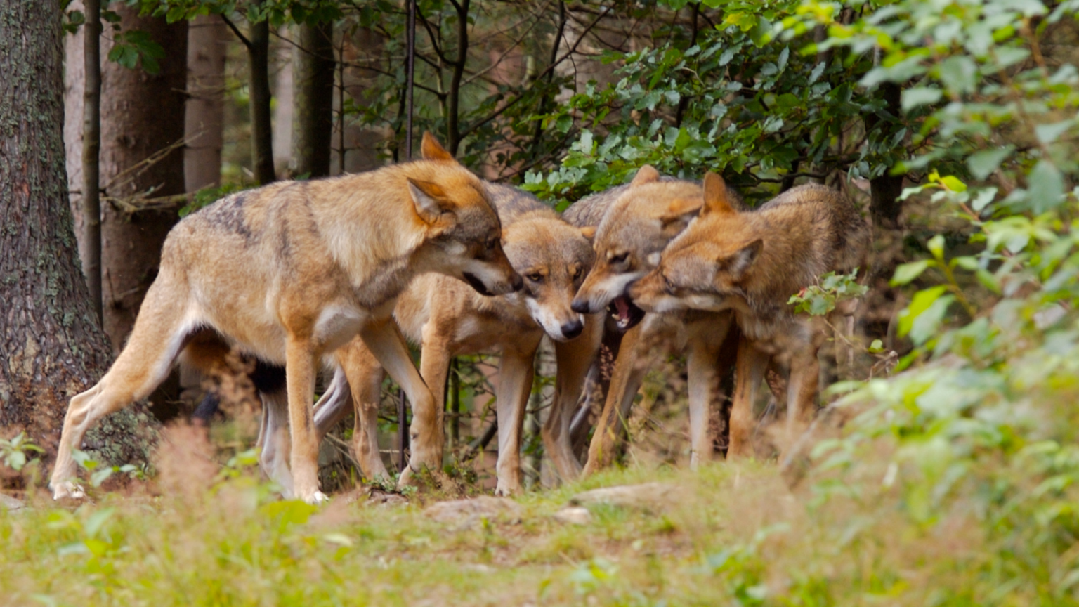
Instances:
[[[408,353],[405,339],[401,337],[400,332],[397,331],[397,325],[392,319],[368,321],[359,329],[359,336],[364,339],[364,343],[367,345],[371,353],[374,354],[374,358],[378,359],[382,368],[386,369],[390,377],[405,390],[409,402],[412,403],[413,412],[431,412],[435,409],[435,397],[431,394],[431,390],[427,389],[427,385],[424,383],[423,378],[420,377],[420,372],[412,364],[412,356]],[[410,482],[410,471],[413,468],[432,464],[440,467],[442,463],[441,445],[436,445],[436,451],[432,446],[429,435],[425,434],[425,432],[433,430],[426,428],[424,422],[429,423],[429,420],[424,419],[418,422],[416,416],[413,416],[411,428],[411,439],[413,441],[412,457],[409,459],[409,467],[401,471],[401,476],[398,480],[399,484],[404,485]]]

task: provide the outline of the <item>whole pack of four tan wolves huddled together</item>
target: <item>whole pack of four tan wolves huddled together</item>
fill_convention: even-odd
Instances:
[[[542,436],[561,480],[611,463],[660,342],[685,353],[691,467],[714,451],[710,409],[732,366],[728,458],[753,455],[762,383],[787,404],[789,436],[807,428],[825,328],[849,326],[855,302],[829,318],[788,300],[827,272],[865,274],[871,230],[846,194],[806,184],[749,210],[714,173],[693,181],[645,165],[559,214],[481,180],[429,134],[421,150],[367,173],[233,193],[177,224],[122,352],[71,399],[54,498],[84,496],[73,455],[95,422],[148,396],[177,363],[207,368],[230,350],[284,377],[259,385],[260,467],[285,497],[312,503],[327,499],[319,442],[350,414],[363,474],[391,477],[378,444],[385,374],[412,407],[398,483],[440,470],[451,361],[490,352],[501,354],[495,494],[520,491],[545,336],[557,375]],[[316,403],[323,372],[332,379]],[[601,413],[582,462],[573,437],[589,401]]]

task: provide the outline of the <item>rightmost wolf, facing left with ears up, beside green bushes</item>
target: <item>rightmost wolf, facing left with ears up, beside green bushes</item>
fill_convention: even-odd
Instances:
[[[709,173],[704,198],[699,216],[671,241],[659,265],[629,287],[629,296],[653,312],[734,312],[742,339],[728,454],[745,456],[753,401],[769,363],[789,369],[789,437],[812,417],[817,353],[827,334],[821,318],[795,314],[787,301],[825,272],[861,269],[864,276],[871,233],[849,198],[819,184],[743,212],[732,203],[723,178]],[[834,313],[849,316],[855,305],[841,302]]]

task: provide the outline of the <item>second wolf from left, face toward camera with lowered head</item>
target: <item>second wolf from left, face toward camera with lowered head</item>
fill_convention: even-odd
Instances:
[[[400,483],[410,481],[421,467],[441,468],[443,392],[450,361],[460,354],[501,352],[496,415],[498,460],[496,495],[521,489],[520,441],[524,408],[532,390],[533,361],[540,341],[547,335],[555,343],[558,372],[555,401],[545,422],[546,453],[560,474],[579,471],[564,436],[569,413],[576,404],[588,358],[598,349],[602,323],[571,309],[574,294],[591,268],[591,228],[575,228],[535,197],[508,186],[487,184],[503,226],[503,246],[510,266],[523,278],[519,292],[486,297],[464,283],[439,274],[418,276],[397,298],[394,318],[405,337],[421,346],[420,370],[434,400],[412,404],[412,456]],[[585,334],[585,335],[583,335]],[[577,347],[577,341],[585,347]],[[582,359],[584,356],[584,359]],[[315,406],[319,437],[355,410],[357,461],[367,477],[388,476],[378,450],[377,414],[382,368],[365,347],[353,339],[334,353],[333,380]],[[274,415],[274,420],[283,416]],[[268,422],[271,436],[284,436],[276,421]],[[269,446],[272,454],[279,450]],[[264,448],[263,453],[267,449]]]

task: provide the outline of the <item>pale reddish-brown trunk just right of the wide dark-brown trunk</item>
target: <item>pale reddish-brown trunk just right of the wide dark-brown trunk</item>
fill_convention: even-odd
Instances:
[[[224,51],[231,35],[217,15],[188,27],[188,103],[185,117],[183,187],[194,192],[221,185],[224,124]]]

